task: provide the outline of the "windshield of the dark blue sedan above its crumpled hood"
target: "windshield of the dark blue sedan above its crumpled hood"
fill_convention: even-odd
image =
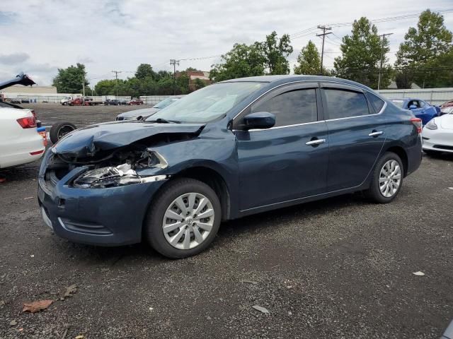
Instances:
[[[217,83],[186,95],[173,105],[151,115],[146,121],[164,119],[182,123],[208,122],[222,117],[248,95],[267,83]]]

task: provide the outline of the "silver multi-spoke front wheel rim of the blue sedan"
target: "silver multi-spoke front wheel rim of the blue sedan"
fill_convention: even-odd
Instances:
[[[193,249],[205,242],[214,225],[214,208],[206,196],[190,192],[168,206],[162,230],[168,244],[176,249]]]

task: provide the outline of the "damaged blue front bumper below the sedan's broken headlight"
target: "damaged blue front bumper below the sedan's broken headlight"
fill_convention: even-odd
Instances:
[[[59,237],[101,246],[134,244],[142,240],[147,208],[166,176],[150,176],[140,183],[107,188],[77,188],[71,183],[88,172],[75,167],[61,179],[45,175],[48,152],[38,177],[42,218]]]

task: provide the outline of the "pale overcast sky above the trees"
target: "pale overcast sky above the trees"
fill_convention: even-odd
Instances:
[[[429,4],[429,5],[428,5]],[[262,41],[273,30],[280,36],[320,24],[348,23],[360,16],[369,19],[452,9],[452,0],[301,1],[301,0],[1,0],[0,81],[19,71],[38,85],[50,85],[58,68],[76,62],[86,65],[92,84],[101,78],[133,76],[141,63],[155,70],[172,70],[170,59],[181,60],[180,69],[193,66],[209,71],[219,54],[235,42]],[[453,13],[445,13],[453,30]],[[417,18],[377,23],[379,33],[393,32],[391,52]],[[351,27],[334,28],[326,40],[326,66],[333,65],[339,38]],[[300,34],[299,34],[300,35]],[[294,64],[308,40],[321,50],[316,32],[292,39]],[[389,54],[394,61],[394,53]]]

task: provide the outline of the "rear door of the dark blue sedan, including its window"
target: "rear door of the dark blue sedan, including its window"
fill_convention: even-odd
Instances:
[[[323,83],[329,139],[328,191],[359,186],[372,170],[385,141],[385,102],[354,86]],[[372,102],[374,100],[374,102]]]

